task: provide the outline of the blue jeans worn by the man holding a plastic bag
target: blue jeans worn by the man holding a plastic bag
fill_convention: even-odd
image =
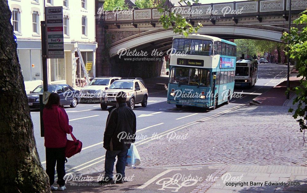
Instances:
[[[127,150],[122,151],[109,151],[106,152],[106,159],[104,161],[104,177],[108,177],[110,179],[113,178],[113,168],[115,163],[115,157],[117,156],[117,163],[116,163],[116,173],[121,174],[121,177],[125,177],[125,168],[127,162]]]

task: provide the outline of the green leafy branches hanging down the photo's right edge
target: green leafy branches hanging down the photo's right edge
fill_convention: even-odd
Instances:
[[[300,17],[294,20],[294,24],[307,24],[307,10],[302,12]],[[297,97],[293,100],[293,105],[298,103],[297,109],[294,111],[293,118],[297,119],[299,122],[300,130],[307,129],[307,26],[305,26],[301,33],[298,33],[298,29],[291,27],[290,32],[284,32],[282,35],[282,40],[289,42],[286,48],[289,49],[286,52],[290,56],[290,59],[295,59],[296,69],[298,70],[297,77],[302,77],[300,80],[301,85],[295,87],[293,91],[296,93]],[[286,93],[290,92],[288,90]],[[293,112],[293,109],[289,109],[289,112]]]

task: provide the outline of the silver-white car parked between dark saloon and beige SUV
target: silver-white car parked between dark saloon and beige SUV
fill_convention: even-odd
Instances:
[[[114,81],[119,79],[121,77],[96,77],[86,87],[80,90],[81,101],[93,100],[93,102],[99,102],[102,92],[108,89]]]

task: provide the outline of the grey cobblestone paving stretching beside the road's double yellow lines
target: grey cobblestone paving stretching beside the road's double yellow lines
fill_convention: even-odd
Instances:
[[[243,106],[138,148],[142,166],[222,162],[304,165],[307,146],[286,106]]]

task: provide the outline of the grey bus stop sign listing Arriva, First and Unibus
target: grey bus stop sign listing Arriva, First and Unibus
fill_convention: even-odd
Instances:
[[[63,7],[46,7],[47,58],[64,58]]]

